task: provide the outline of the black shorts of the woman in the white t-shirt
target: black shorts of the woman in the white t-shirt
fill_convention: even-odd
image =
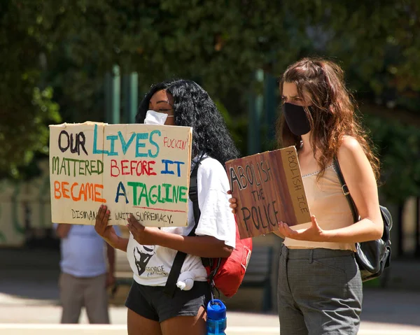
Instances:
[[[211,289],[207,282],[194,282],[189,291],[176,288],[174,297],[163,292],[163,286],[140,285],[133,280],[125,307],[144,318],[163,322],[176,316],[196,316],[201,306],[207,308]]]

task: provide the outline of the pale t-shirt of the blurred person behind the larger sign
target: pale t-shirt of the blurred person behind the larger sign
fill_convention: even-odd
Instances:
[[[53,224],[57,229],[58,224]],[[114,226],[119,235],[120,230]],[[75,277],[96,277],[107,271],[106,242],[90,224],[71,224],[69,234],[61,239],[61,271]]]

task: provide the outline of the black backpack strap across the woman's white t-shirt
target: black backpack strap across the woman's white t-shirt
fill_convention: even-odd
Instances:
[[[190,200],[193,202],[195,224],[194,224],[193,229],[190,231],[190,234],[188,234],[188,236],[195,236],[195,229],[197,229],[198,220],[200,220],[200,207],[198,206],[198,190],[197,190],[197,171],[198,171],[198,166],[206,158],[207,157],[204,157],[204,158],[200,157],[200,159],[198,159],[197,163],[195,164],[193,171],[191,171],[190,190],[188,191],[188,196],[190,197]],[[171,298],[174,296],[174,293],[176,290],[176,280],[178,280],[179,274],[181,273],[183,262],[186,260],[186,257],[187,257],[187,254],[185,252],[182,252],[182,251],[176,252],[174,264],[172,264],[172,268],[171,268],[171,271],[169,272],[165,289],[163,290],[163,292]]]

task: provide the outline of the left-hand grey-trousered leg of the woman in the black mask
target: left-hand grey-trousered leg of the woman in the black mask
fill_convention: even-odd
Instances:
[[[277,284],[277,310],[279,313],[280,334],[308,334],[303,314],[297,308],[290,292],[288,249],[283,245],[279,260],[279,282]]]

